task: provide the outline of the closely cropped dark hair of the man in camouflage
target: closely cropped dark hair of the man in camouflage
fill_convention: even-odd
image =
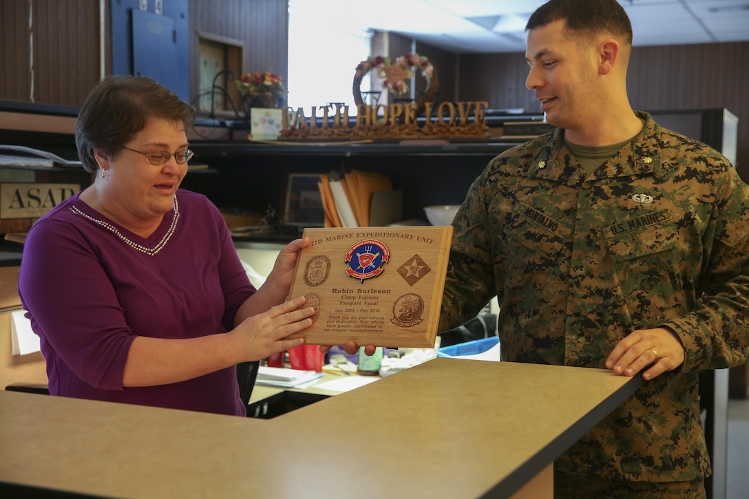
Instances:
[[[570,31],[613,34],[632,45],[632,24],[616,0],[549,0],[531,14],[525,31],[559,20]]]

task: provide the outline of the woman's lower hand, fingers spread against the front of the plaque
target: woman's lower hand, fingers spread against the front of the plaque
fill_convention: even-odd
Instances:
[[[229,335],[233,336],[247,361],[261,360],[303,345],[304,338],[287,339],[294,333],[306,330],[312,325],[315,309],[304,306],[303,296],[271,307],[267,312],[246,318]]]

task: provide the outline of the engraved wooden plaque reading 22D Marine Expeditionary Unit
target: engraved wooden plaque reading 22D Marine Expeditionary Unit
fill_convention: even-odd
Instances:
[[[310,345],[433,348],[452,226],[305,229],[289,297],[316,309]]]

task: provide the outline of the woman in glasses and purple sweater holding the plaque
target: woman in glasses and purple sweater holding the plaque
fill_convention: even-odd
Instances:
[[[89,94],[76,145],[94,184],[26,239],[19,294],[53,395],[245,414],[236,364],[303,344],[304,297],[285,302],[297,252],[249,282],[219,211],[180,190],[195,109],[139,76]]]

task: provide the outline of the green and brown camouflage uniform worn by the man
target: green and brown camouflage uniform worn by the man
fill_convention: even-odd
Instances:
[[[749,352],[749,187],[712,148],[637,115],[642,132],[590,175],[560,130],[489,163],[453,222],[440,330],[496,294],[503,360],[604,368],[633,330],[670,328],[683,365],[557,467],[694,480],[710,473],[697,375]]]

